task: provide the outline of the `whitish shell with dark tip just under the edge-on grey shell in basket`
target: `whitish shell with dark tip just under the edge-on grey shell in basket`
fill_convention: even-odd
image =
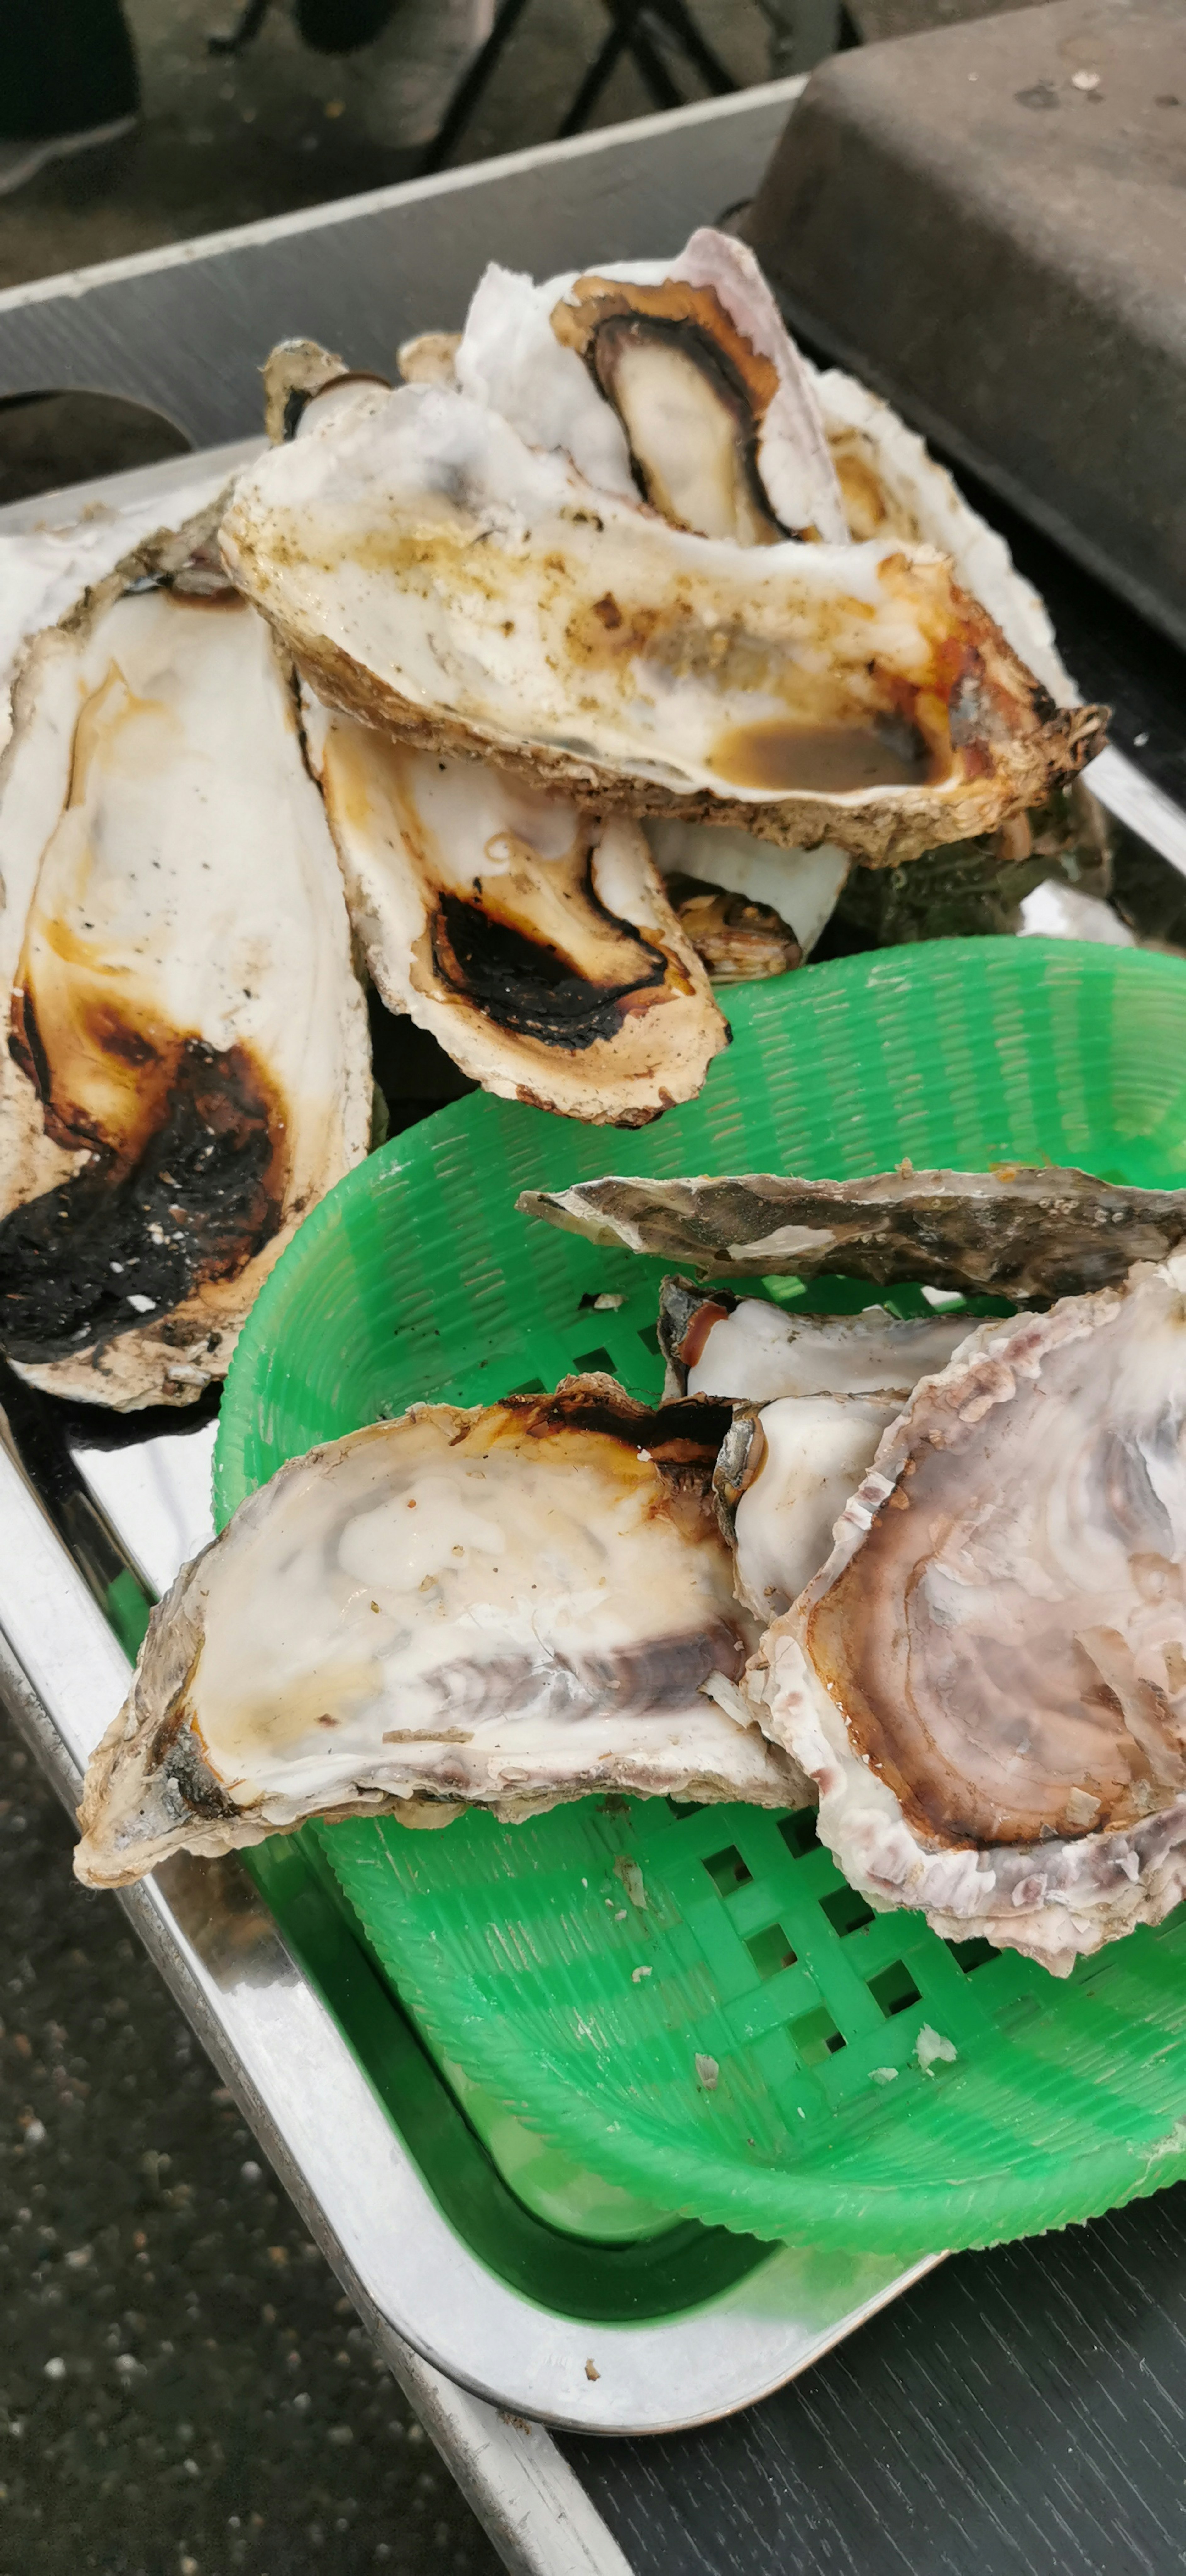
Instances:
[[[787,1314],[728,1288],[705,1296],[669,1278],[659,1291],[659,1350],[671,1396],[906,1396],[947,1368],[970,1332],[965,1314]]]

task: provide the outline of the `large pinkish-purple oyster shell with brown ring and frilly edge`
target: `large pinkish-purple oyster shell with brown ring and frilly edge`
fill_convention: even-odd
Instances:
[[[877,1906],[1055,1973],[1186,1891],[1186,1255],[983,1324],[764,1641]]]

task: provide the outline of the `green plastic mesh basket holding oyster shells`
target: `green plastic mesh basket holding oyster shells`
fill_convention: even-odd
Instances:
[[[731,1018],[702,1097],[659,1126],[476,1095],[352,1172],[242,1334],[219,1517],[283,1458],[417,1396],[473,1404],[571,1368],[659,1388],[661,1262],[530,1224],[525,1185],[846,1177],[903,1154],[1186,1180],[1171,958],[949,940],[741,987]],[[602,1293],[623,1303],[594,1311]],[[821,1283],[818,1303],[841,1301]],[[906,2262],[1186,2172],[1186,1919],[1057,1984],[916,1914],[870,1917],[810,1814],[594,1798],[522,1826],[309,1832],[437,2061],[651,2213]],[[954,2061],[918,2063],[924,2025]]]

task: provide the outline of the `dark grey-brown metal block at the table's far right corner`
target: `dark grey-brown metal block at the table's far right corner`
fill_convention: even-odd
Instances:
[[[746,216],[790,322],[1186,644],[1186,10],[839,54]]]

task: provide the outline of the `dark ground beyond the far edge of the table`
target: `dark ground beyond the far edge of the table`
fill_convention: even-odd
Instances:
[[[237,0],[123,5],[141,67],[141,131],[108,155],[57,162],[3,201],[0,286],[409,178],[484,13],[484,0],[401,0],[376,44],[332,57],[311,54],[273,0],[250,52],[219,59],[206,39],[234,21]],[[767,80],[756,0],[697,0],[697,23],[738,82]],[[605,26],[602,0],[530,0],[455,160],[548,142]],[[677,80],[684,95],[702,95],[687,64]],[[648,108],[625,62],[592,124]]]

